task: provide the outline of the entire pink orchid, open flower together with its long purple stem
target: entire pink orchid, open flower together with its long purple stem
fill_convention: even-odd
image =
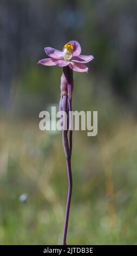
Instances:
[[[73,185],[71,172],[71,152],[73,142],[73,117],[71,114],[71,101],[74,87],[73,70],[77,72],[88,72],[87,66],[83,65],[83,63],[90,62],[90,60],[94,59],[94,57],[92,55],[80,55],[81,46],[77,41],[69,41],[66,45],[64,45],[63,51],[58,51],[51,47],[45,47],[44,50],[50,58],[41,59],[38,63],[45,66],[57,65],[63,67],[63,74],[61,76],[61,99],[59,109],[62,126],[63,147],[66,156],[68,173],[68,197],[63,231],[63,245],[67,245],[66,239]],[[67,118],[63,117],[62,111],[66,113]]]

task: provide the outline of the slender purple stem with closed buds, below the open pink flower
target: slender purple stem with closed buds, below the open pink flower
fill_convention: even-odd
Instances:
[[[64,79],[66,78],[66,80]],[[70,209],[70,202],[71,202],[71,194],[73,188],[73,179],[71,173],[71,151],[72,151],[72,119],[71,114],[69,116],[69,112],[72,111],[71,107],[71,97],[73,93],[73,71],[69,68],[69,66],[65,66],[63,68],[63,75],[61,78],[61,104],[60,109],[67,113],[67,130],[62,130],[62,137],[63,137],[63,147],[64,152],[66,155],[66,164],[67,164],[67,173],[68,173],[68,197],[67,197],[67,205],[66,205],[66,215],[64,221],[64,231],[63,231],[63,245],[66,245],[67,239],[67,231],[68,231],[68,221],[69,221],[69,209]],[[70,117],[70,120],[69,120]],[[65,122],[65,120],[63,120]],[[69,129],[69,122],[70,122],[70,130],[69,130],[69,142],[68,142],[68,129]]]

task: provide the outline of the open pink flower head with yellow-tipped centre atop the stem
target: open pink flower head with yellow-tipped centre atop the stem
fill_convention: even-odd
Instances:
[[[38,63],[45,66],[69,66],[70,69],[77,72],[88,72],[87,66],[83,63],[94,59],[92,55],[80,55],[81,46],[77,41],[69,41],[64,45],[63,51],[51,47],[45,47],[44,51],[50,58],[41,59]]]

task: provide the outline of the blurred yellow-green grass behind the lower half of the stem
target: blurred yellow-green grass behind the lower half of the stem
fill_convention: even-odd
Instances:
[[[109,136],[74,132],[68,243],[137,243],[136,131],[132,118],[121,117]],[[68,183],[61,140],[38,122],[1,121],[1,245],[62,243]]]

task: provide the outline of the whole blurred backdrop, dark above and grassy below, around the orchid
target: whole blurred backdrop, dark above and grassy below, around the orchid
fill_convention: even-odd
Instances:
[[[67,241],[137,244],[136,8],[134,0],[1,0],[1,245],[62,243],[62,135],[38,127],[39,113],[58,104],[62,69],[36,63],[45,46],[62,50],[69,40],[95,57],[88,75],[74,73],[73,109],[98,111],[99,131],[74,131]]]

